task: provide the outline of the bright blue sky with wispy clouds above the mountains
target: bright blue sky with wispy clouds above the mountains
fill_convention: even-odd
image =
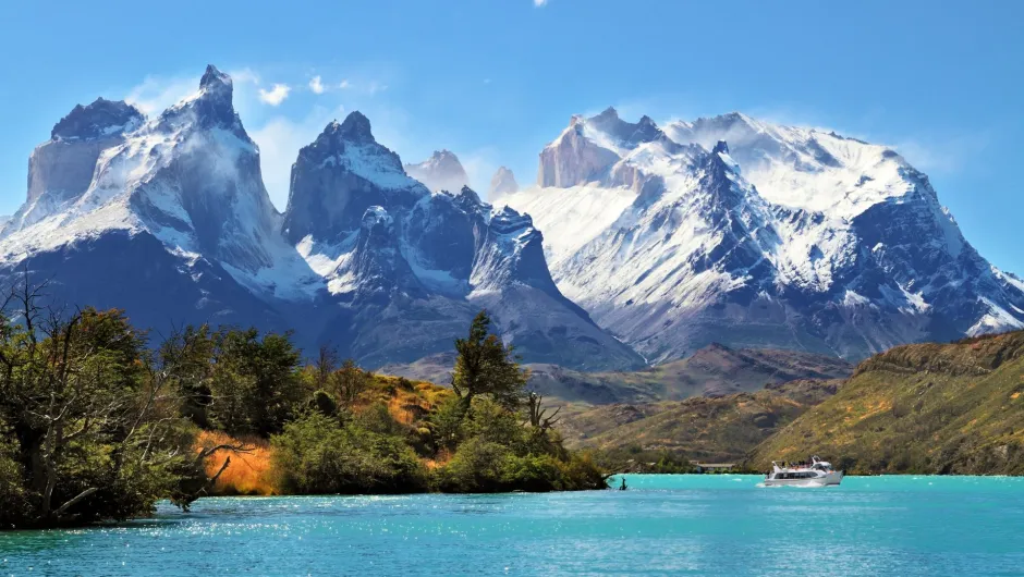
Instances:
[[[983,255],[1024,273],[1024,2],[840,4],[10,2],[0,212],[22,202],[28,155],[75,103],[157,110],[215,63],[235,77],[282,209],[298,147],[355,109],[405,161],[455,151],[483,189],[500,164],[532,182],[573,113],[741,110],[895,147]]]

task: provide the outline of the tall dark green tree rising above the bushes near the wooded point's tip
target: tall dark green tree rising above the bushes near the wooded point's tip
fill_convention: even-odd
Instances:
[[[513,347],[505,346],[498,335],[490,333],[490,317],[486,310],[473,319],[466,339],[455,340],[455,353],[451,384],[464,413],[468,413],[477,396],[489,396],[510,410],[522,405],[529,373],[520,368]]]

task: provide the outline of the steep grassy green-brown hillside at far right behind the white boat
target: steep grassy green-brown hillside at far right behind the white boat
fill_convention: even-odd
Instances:
[[[852,472],[1024,474],[1024,331],[892,348],[758,446]]]

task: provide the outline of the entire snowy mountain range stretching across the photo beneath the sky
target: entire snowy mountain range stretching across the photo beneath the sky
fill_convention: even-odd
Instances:
[[[359,112],[292,167],[279,212],[209,66],[147,118],[76,106],[29,158],[0,278],[195,322],[294,330],[365,366],[451,348],[481,308],[524,360],[641,368],[722,343],[863,358],[1024,327],[1024,282],[988,263],[927,176],[882,146],[733,113],[658,126],[613,109],[502,168],[484,201],[450,151],[403,164]]]

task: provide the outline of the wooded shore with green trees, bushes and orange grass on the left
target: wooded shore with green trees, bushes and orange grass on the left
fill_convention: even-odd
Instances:
[[[184,511],[212,494],[607,489],[564,449],[480,311],[450,388],[373,375],[290,334],[185,327],[153,343],[120,310],[2,302],[0,529]]]

